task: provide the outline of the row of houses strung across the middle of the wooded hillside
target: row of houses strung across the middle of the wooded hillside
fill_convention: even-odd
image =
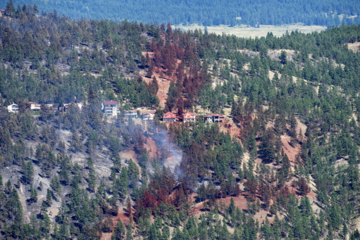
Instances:
[[[62,106],[58,107],[58,110],[61,112],[66,112],[71,105],[76,105],[80,109],[82,108],[82,103],[64,103]],[[48,107],[54,107],[53,104],[46,104]],[[30,107],[30,110],[32,111],[40,111],[41,105],[37,104],[35,102],[28,102],[28,107]],[[8,107],[9,112],[18,112],[20,109],[20,106],[16,103],[10,104]],[[104,101],[102,106],[102,111],[104,115],[106,116],[117,116],[118,111],[118,102],[117,101]],[[141,117],[143,121],[152,121],[154,120],[154,115],[156,111],[155,110],[144,110],[142,108],[137,108],[136,110],[126,110],[123,113],[123,116],[125,117],[133,117],[138,118]],[[192,112],[185,112],[182,116],[184,123],[195,123],[196,121],[196,114]],[[162,121],[166,123],[172,123],[177,122],[180,120],[180,117],[177,116],[173,112],[166,112],[162,115],[161,118]],[[222,123],[224,122],[225,117],[220,114],[208,114],[204,116],[203,122],[204,123]]]

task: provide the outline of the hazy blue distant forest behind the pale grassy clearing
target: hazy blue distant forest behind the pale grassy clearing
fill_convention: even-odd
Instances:
[[[305,25],[334,26],[360,23],[360,6],[357,0],[34,0],[32,3],[46,12],[56,9],[60,14],[74,19],[128,19],[139,22],[170,22],[175,25],[198,23],[204,26],[283,25],[298,22]],[[14,0],[14,4],[22,6],[27,1]]]

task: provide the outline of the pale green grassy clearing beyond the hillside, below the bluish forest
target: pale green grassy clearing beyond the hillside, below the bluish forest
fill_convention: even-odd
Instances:
[[[183,30],[195,30],[195,29],[201,29],[204,30],[204,26],[192,24],[189,26],[183,26],[183,25],[176,25],[173,26],[176,28],[180,28]],[[282,36],[285,34],[286,30],[289,32],[291,31],[301,31],[304,33],[309,33],[313,31],[321,31],[325,30],[325,26],[318,26],[318,25],[312,25],[312,26],[303,26],[302,24],[297,25],[282,25],[282,26],[274,26],[274,25],[260,25],[259,28],[255,27],[247,27],[246,25],[240,25],[235,27],[229,27],[227,25],[220,25],[220,26],[212,26],[207,27],[208,32],[215,32],[216,34],[222,34],[225,32],[225,34],[234,34],[238,37],[261,37],[266,36],[268,32],[273,32],[275,36]]]

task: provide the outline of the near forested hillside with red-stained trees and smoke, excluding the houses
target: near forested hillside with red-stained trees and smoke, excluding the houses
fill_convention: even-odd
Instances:
[[[360,25],[247,39],[7,6],[1,239],[360,239]]]

